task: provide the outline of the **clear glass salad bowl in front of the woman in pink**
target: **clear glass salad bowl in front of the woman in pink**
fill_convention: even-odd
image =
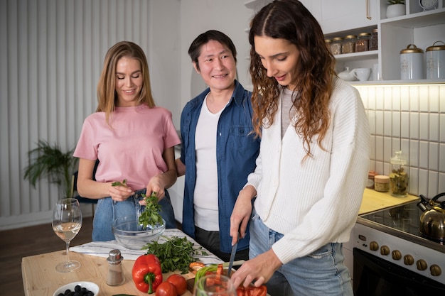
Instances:
[[[156,241],[166,230],[166,221],[162,219],[162,224],[156,224],[154,229],[147,226],[141,229],[136,216],[124,216],[115,219],[112,223],[114,238],[125,248],[141,250],[150,241]]]

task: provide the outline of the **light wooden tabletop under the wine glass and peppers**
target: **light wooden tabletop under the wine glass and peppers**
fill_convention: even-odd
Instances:
[[[109,286],[105,283],[108,273],[107,258],[89,256],[82,253],[70,252],[70,259],[77,260],[81,266],[71,273],[58,273],[55,265],[66,260],[65,251],[45,253],[22,258],[21,270],[23,276],[23,290],[26,296],[53,296],[55,290],[62,285],[76,281],[96,283],[100,287],[99,295],[112,296],[117,294],[147,295],[136,289],[132,279],[134,261],[122,261],[122,272],[125,283],[120,286]],[[163,280],[171,273],[163,275]],[[183,275],[186,279],[194,278],[193,273]],[[154,295],[154,294],[153,294]],[[191,295],[186,292],[183,295]]]

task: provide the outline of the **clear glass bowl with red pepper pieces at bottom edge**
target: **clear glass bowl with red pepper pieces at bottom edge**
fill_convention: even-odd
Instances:
[[[225,275],[205,275],[195,283],[193,296],[236,296],[232,280]]]

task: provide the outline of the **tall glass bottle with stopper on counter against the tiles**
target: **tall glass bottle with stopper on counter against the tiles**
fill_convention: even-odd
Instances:
[[[402,151],[395,151],[391,158],[390,190],[393,197],[405,197],[408,193],[407,160],[402,158]]]

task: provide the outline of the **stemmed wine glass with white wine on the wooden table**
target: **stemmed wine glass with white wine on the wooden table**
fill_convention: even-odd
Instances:
[[[59,273],[69,273],[80,268],[80,262],[70,260],[70,241],[82,227],[82,212],[79,201],[75,198],[59,199],[53,211],[53,231],[66,243],[67,261],[55,266]]]

